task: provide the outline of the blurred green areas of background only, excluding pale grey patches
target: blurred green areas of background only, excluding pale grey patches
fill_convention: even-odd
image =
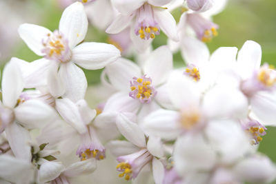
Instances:
[[[12,6],[14,6],[13,3],[17,3],[19,0],[8,1],[11,1]],[[32,13],[37,14],[32,15],[38,19],[31,23],[43,25],[50,30],[58,28],[62,9],[57,6],[55,0],[21,0],[22,2],[30,3],[33,8],[31,9],[34,10]],[[240,49],[246,40],[253,40],[262,45],[262,61],[276,65],[275,0],[230,0],[226,9],[214,17],[214,22],[219,25],[219,36],[208,43],[210,52],[213,52],[221,46],[236,46]],[[100,32],[90,25],[86,41],[106,42],[106,40],[107,36],[104,32]],[[165,43],[166,37],[161,34],[155,39],[154,47],[157,48],[159,45]],[[23,41],[19,41],[14,45],[11,55],[26,61],[39,59],[37,55],[27,48]],[[8,61],[9,59],[7,58],[5,60]],[[176,62],[182,62],[179,53],[175,54],[174,59]],[[87,70],[86,76],[88,83],[98,83],[100,73],[101,70]],[[276,127],[268,127],[267,134],[259,145],[259,151],[267,154],[276,163],[275,140]]]

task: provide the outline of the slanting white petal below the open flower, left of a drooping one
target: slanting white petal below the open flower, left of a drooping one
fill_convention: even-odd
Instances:
[[[79,134],[83,134],[87,131],[86,125],[81,119],[81,114],[77,105],[70,101],[70,99],[57,99],[56,109],[61,117],[72,127],[74,127]]]

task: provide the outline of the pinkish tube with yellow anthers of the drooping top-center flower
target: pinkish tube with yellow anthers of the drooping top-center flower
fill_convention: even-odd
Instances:
[[[160,28],[155,21],[152,7],[145,3],[137,11],[135,34],[141,39],[154,39],[160,34]]]

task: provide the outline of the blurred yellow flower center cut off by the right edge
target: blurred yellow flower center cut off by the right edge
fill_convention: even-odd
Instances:
[[[266,87],[272,87],[276,83],[276,72],[268,65],[264,65],[257,74],[257,79]]]

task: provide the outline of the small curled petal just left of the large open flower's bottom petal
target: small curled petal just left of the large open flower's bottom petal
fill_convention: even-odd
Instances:
[[[48,90],[52,96],[58,98],[65,93],[65,86],[58,74],[58,65],[52,63],[48,69]]]

